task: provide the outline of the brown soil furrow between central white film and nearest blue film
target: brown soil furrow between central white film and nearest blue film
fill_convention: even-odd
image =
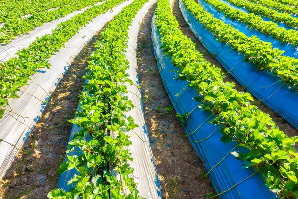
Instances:
[[[208,177],[201,178],[205,168],[194,151],[186,133],[175,117],[166,113],[171,104],[158,74],[151,40],[152,6],[140,27],[137,46],[137,73],[145,121],[149,133],[158,178],[164,199],[203,199],[214,188]]]

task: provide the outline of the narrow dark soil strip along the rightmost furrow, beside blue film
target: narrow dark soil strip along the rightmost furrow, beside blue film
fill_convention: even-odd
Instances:
[[[190,30],[189,26],[185,22],[181,10],[179,8],[179,0],[174,0],[173,3],[173,14],[177,18],[179,22],[179,28],[183,32],[184,35],[186,35],[188,38],[192,40],[192,42],[196,45],[196,50],[202,53],[205,60],[209,61],[211,64],[215,65],[216,67],[221,68],[222,72],[226,74],[225,81],[233,82],[235,83],[236,87],[235,89],[240,92],[247,92],[242,85],[238,83],[238,81],[227,72],[227,70],[216,60],[216,58],[210,54],[207,49],[203,46],[203,44],[197,39],[197,37],[193,34],[193,32]],[[259,101],[256,97],[252,95],[254,101]],[[263,102],[258,102],[256,106],[262,110],[263,112],[270,115],[272,120],[276,123],[276,125],[279,127],[281,131],[284,131],[286,135],[289,137],[298,136],[298,130],[294,128],[289,122],[287,122],[282,116],[280,116],[278,113],[276,113],[274,110],[272,110],[270,107],[268,107]],[[298,143],[294,146],[296,151],[298,151]]]

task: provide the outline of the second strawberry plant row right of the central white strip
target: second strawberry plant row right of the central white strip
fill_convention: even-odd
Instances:
[[[283,56],[283,52],[272,48],[271,43],[264,42],[256,36],[247,37],[244,33],[222,20],[212,17],[210,13],[194,0],[184,1],[186,8],[215,35],[220,42],[226,42],[235,50],[243,53],[247,61],[260,70],[269,70],[279,76],[285,83],[298,89],[298,60]]]

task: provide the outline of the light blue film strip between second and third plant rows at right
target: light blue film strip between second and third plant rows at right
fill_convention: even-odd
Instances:
[[[224,12],[218,11],[215,7],[205,2],[204,0],[197,0],[197,1],[201,4],[204,10],[212,14],[213,17],[224,21],[225,24],[230,24],[232,27],[244,33],[246,36],[251,37],[255,35],[263,41],[270,42],[273,48],[278,48],[279,50],[285,51],[283,55],[298,58],[298,46],[293,46],[290,43],[281,42],[278,39],[273,38],[271,35],[265,35],[262,32],[255,30],[254,28],[247,27],[246,23],[242,23],[238,20],[233,20],[230,17],[225,17]],[[220,0],[220,1],[223,1],[223,0]],[[239,9],[239,8],[235,8],[235,9]]]

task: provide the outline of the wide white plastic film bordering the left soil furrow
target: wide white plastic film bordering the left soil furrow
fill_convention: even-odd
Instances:
[[[14,144],[20,148],[31,133],[42,114],[51,92],[55,90],[63,74],[67,71],[74,57],[83,49],[84,45],[98,32],[108,21],[113,19],[114,15],[128,5],[132,0],[126,1],[93,19],[92,22],[82,27],[79,32],[65,44],[65,47],[50,57],[50,69],[39,69],[36,74],[32,75],[28,85],[21,88],[17,94],[19,98],[9,100],[9,104],[14,112],[20,117],[10,113],[12,116],[4,113],[0,120],[0,138]],[[17,120],[19,121],[17,121]],[[0,178],[2,178],[18,150],[5,142],[0,142]]]

